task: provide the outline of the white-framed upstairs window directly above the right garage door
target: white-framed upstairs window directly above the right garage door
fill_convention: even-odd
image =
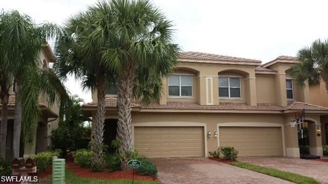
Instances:
[[[220,98],[241,98],[239,77],[219,77]]]

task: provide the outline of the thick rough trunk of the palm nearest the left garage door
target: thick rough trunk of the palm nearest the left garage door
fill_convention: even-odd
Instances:
[[[117,96],[117,139],[120,142],[119,153],[121,169],[127,170],[129,152],[132,151],[132,92],[134,79],[134,62],[127,62],[118,76]]]

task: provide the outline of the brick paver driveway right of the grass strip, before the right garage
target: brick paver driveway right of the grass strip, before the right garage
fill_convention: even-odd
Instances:
[[[289,157],[239,157],[238,161],[276,168],[328,183],[328,163]]]

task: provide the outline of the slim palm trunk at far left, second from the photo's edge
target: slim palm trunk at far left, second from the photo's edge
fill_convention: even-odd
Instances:
[[[22,130],[22,103],[19,99],[20,93],[20,82],[16,80],[16,95],[15,95],[15,113],[14,113],[14,135],[13,135],[13,145],[12,152],[13,157],[19,157],[19,145],[20,145],[20,133]]]

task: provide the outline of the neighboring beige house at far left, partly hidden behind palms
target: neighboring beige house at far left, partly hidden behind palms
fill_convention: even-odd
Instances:
[[[40,51],[38,58],[38,66],[43,70],[49,68],[49,63],[54,62],[54,55],[47,44]],[[39,106],[40,106],[40,117],[37,126],[37,132],[35,136],[35,141],[30,146],[25,146],[24,157],[35,154],[38,152],[47,151],[50,148],[49,135],[51,130],[58,127],[58,112],[59,107],[55,103],[53,106],[49,107],[47,98],[44,94],[39,96]],[[7,150],[6,157],[12,158],[12,143],[13,143],[13,122],[14,122],[14,106],[15,106],[15,85],[10,89],[9,103],[8,103],[8,132],[7,132]],[[0,111],[2,104],[0,104]],[[20,148],[21,150],[23,147]],[[20,151],[22,153],[22,151]]]

